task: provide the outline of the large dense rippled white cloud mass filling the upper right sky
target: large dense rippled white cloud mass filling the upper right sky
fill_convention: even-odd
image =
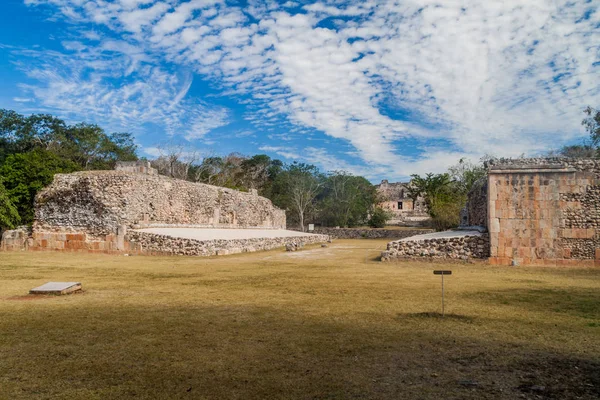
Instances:
[[[581,110],[600,103],[592,2],[27,2],[250,96],[257,124],[349,143],[362,161],[337,161],[348,169],[407,176],[458,156],[540,152],[580,137]]]

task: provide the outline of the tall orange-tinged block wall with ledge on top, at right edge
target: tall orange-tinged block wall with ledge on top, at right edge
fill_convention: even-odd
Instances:
[[[488,176],[490,263],[600,265],[596,160],[495,161]]]

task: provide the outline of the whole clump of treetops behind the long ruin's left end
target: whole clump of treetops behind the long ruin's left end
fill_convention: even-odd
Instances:
[[[112,169],[117,161],[134,160],[130,133],[107,134],[94,124],[0,109],[0,228],[31,223],[35,195],[54,174]]]

